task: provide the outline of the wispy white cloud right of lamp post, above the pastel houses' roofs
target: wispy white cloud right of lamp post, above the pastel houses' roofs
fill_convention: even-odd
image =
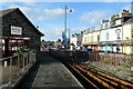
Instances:
[[[108,14],[106,10],[85,12],[81,16],[80,20],[89,23],[96,23],[100,20],[102,20],[106,14]]]

